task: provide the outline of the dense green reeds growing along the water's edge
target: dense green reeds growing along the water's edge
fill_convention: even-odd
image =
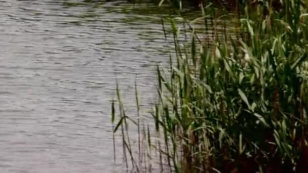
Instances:
[[[137,117],[126,114],[118,82],[111,104],[127,168],[151,172],[157,163],[160,172],[306,172],[308,2],[241,2],[234,9],[236,36],[224,25],[223,39],[215,32],[211,40],[199,38],[194,21],[181,16],[180,1],[163,3],[178,12],[168,19],[175,55],[169,68],[157,68],[158,100],[148,113],[153,129],[143,123],[137,85]],[[210,3],[201,3],[196,19],[205,33],[218,21],[208,17],[214,16]],[[189,29],[183,33],[179,23]],[[190,40],[179,41],[180,34]],[[137,128],[137,147],[128,124]]]

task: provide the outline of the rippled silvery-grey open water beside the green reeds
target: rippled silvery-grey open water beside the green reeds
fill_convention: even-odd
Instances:
[[[121,172],[115,74],[128,104],[136,75],[146,102],[155,96],[169,59],[156,8],[74,2],[0,1],[0,172]]]

